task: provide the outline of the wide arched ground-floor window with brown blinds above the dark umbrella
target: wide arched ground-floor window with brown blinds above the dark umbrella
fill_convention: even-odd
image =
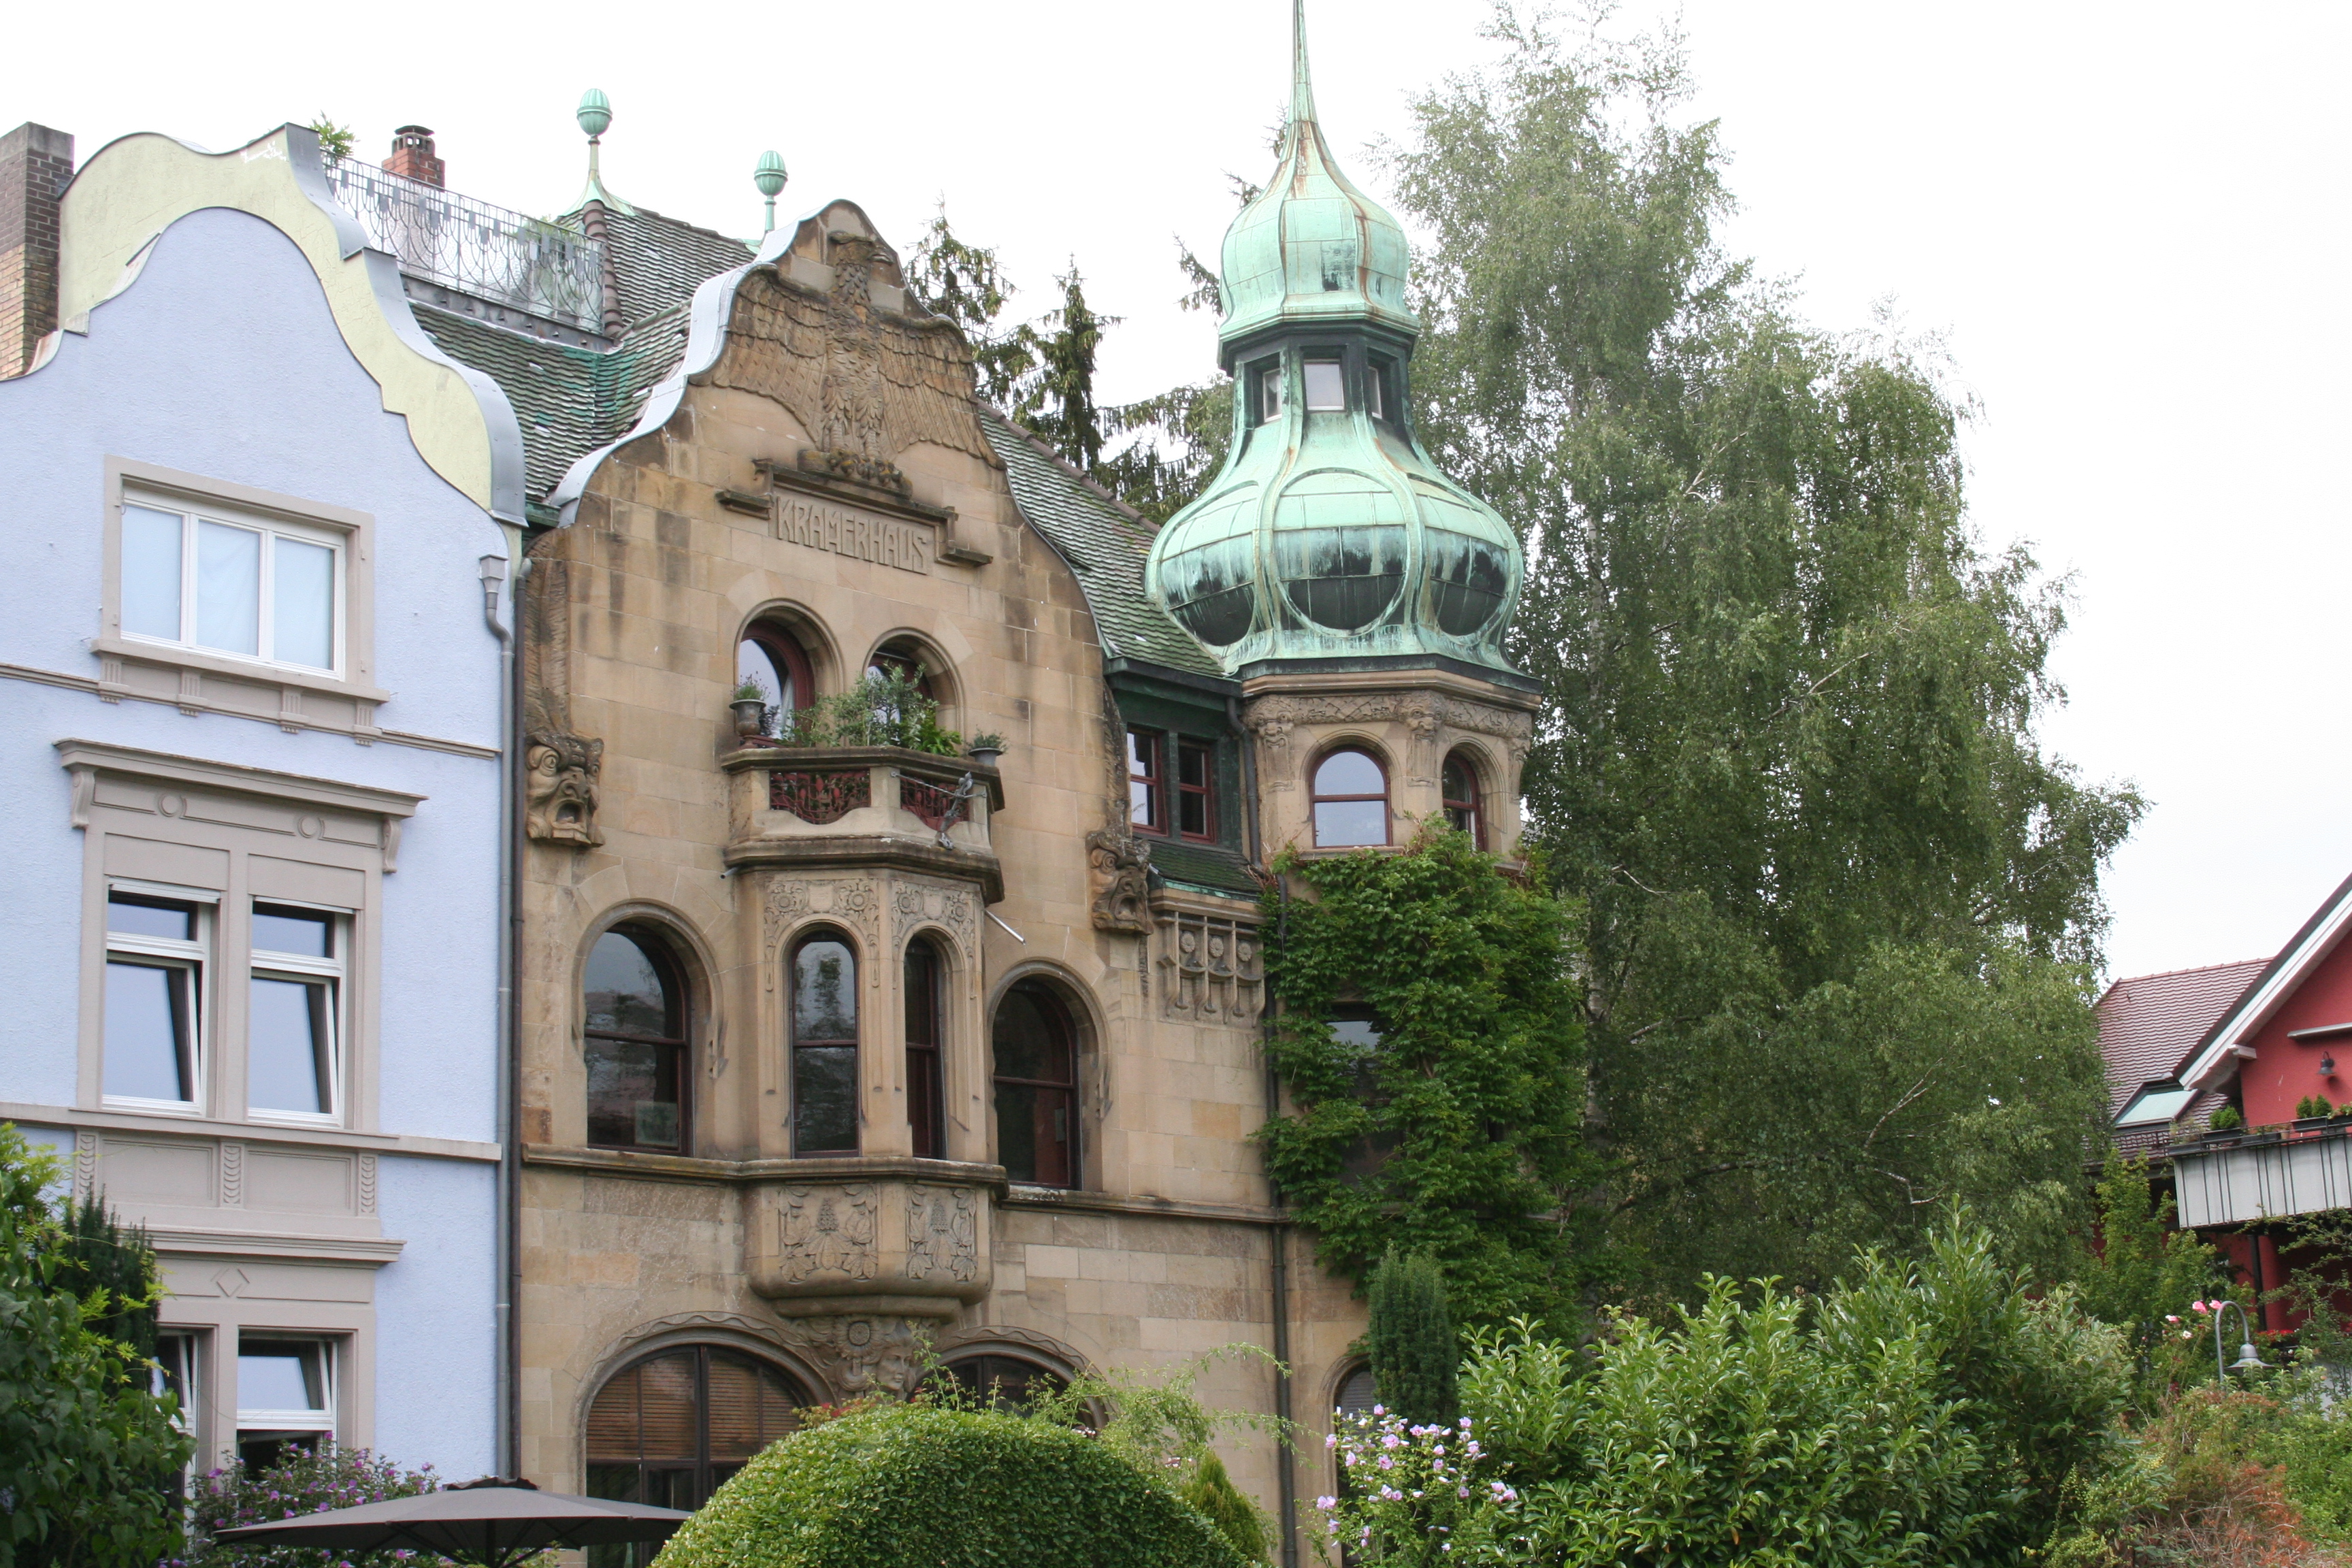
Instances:
[[[720,1345],[633,1361],[588,1406],[588,1495],[699,1509],[746,1460],[790,1434],[807,1403],[783,1371]],[[626,1547],[602,1556],[590,1547],[590,1563],[628,1561]]]

